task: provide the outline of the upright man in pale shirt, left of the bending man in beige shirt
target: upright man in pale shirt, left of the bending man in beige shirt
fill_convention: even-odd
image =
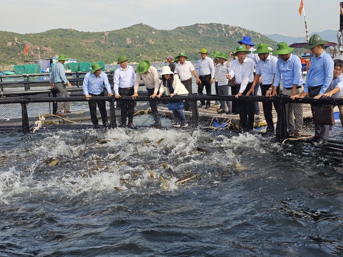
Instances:
[[[118,58],[119,67],[115,71],[113,78],[115,97],[133,96],[136,73],[132,66],[128,65],[128,58],[125,55],[120,55]],[[135,112],[135,101],[120,101],[122,124],[120,127],[126,127],[126,119],[129,118],[128,127],[134,128],[133,114]]]

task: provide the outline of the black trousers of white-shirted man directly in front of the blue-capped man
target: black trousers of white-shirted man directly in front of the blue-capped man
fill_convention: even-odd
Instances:
[[[248,83],[242,95],[247,95],[253,83]],[[241,85],[237,85],[237,92],[239,93]],[[252,131],[254,129],[254,102],[253,101],[239,101],[238,113],[240,114],[241,126],[243,132]]]

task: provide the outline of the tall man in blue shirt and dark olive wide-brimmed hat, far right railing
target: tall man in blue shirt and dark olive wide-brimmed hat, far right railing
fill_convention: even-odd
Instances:
[[[304,91],[292,97],[293,99],[306,96],[319,99],[323,96],[326,89],[329,88],[333,78],[334,62],[331,56],[324,51],[323,45],[327,42],[318,34],[314,34],[310,38],[309,44],[305,46],[306,49],[311,49],[314,56],[310,61],[310,69],[306,76]],[[318,116],[318,113],[321,111],[320,114],[325,113],[325,115],[330,115],[332,112],[331,106],[311,104],[311,110],[315,129],[315,135],[311,143],[318,146],[326,145],[329,139],[330,125],[333,124],[322,121],[321,119],[323,117]]]

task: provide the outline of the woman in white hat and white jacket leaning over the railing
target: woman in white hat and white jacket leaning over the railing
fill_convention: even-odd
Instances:
[[[164,66],[162,68],[162,86],[159,89],[159,95],[157,97],[161,97],[163,92],[165,92],[166,95],[169,95],[170,97],[173,97],[175,95],[188,95],[188,91],[185,88],[185,86],[181,83],[179,75],[174,74],[170,67]],[[177,105],[177,107],[172,107],[172,105]],[[173,114],[175,117],[175,123],[173,126],[175,127],[187,127],[187,121],[185,118],[185,113],[183,111],[183,102],[177,102],[177,103],[169,103],[168,108],[173,110]]]

